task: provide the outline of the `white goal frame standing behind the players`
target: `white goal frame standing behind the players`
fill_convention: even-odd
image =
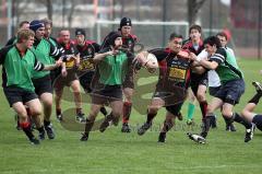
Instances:
[[[119,21],[96,21],[96,39],[102,43],[104,37],[111,31],[119,28]],[[186,21],[162,22],[162,21],[132,21],[132,33],[139,38],[139,42],[145,47],[166,46],[168,37],[176,32],[183,38],[188,38],[189,23]]]

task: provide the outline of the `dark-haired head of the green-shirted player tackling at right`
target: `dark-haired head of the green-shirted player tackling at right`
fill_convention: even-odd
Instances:
[[[210,36],[204,40],[204,47],[210,55],[213,55],[217,48],[222,47],[222,44],[216,36]]]

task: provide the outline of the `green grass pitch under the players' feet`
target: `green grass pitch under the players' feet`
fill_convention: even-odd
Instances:
[[[247,91],[236,107],[237,112],[241,111],[254,93],[251,82],[261,81],[259,74],[261,61],[240,59],[239,66],[245,72]],[[1,174],[259,174],[262,171],[262,134],[257,130],[253,140],[245,143],[243,127],[236,124],[237,132],[227,132],[221,117],[218,128],[211,130],[207,137],[207,144],[193,143],[186,137],[189,128],[184,120],[177,121],[177,127],[170,130],[167,142],[163,144],[157,142],[157,137],[164,119],[164,109],[158,113],[153,129],[142,137],[136,135],[135,129],[145,120],[145,115],[133,111],[131,134],[120,132],[121,127],[118,126],[109,128],[104,134],[92,132],[87,142],[80,142],[80,131],[66,130],[55,119],[53,114],[56,139],[46,139],[40,146],[31,146],[22,131],[14,128],[13,112],[9,108],[2,92],[0,97]],[[64,108],[72,105],[73,103],[63,102]],[[88,104],[84,106],[87,114]],[[262,113],[262,109],[258,107],[257,112]],[[187,113],[187,103],[182,113],[183,115]],[[199,107],[194,118],[199,123]],[[199,127],[194,127],[194,131],[199,132]]]

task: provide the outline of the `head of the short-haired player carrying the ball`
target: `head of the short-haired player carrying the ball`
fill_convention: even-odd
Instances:
[[[169,36],[168,48],[174,53],[179,53],[182,47],[182,35],[171,33]]]

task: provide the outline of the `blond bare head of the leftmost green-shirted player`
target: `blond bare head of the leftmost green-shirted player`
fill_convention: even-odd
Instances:
[[[31,48],[34,44],[35,33],[32,30],[21,28],[17,32],[17,44]]]

